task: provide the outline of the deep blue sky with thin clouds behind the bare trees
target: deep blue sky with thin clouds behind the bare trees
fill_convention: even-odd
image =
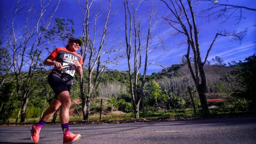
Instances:
[[[84,1],[80,0],[82,3]],[[24,4],[29,1],[24,1]],[[39,3],[35,2],[36,12],[39,11]],[[133,1],[134,5],[137,4],[138,1]],[[1,14],[6,13],[6,18],[8,21],[12,20],[12,12],[14,10],[14,3],[10,4],[10,1],[4,0],[2,1],[2,4],[0,5],[0,12]],[[160,43],[158,40],[158,37],[162,37],[164,39],[164,46],[165,50],[159,48],[151,51],[149,53],[148,62],[158,62],[165,67],[170,66],[172,64],[180,63],[180,59],[182,55],[186,54],[186,45],[180,45],[177,47],[177,44],[182,41],[185,37],[181,34],[177,36],[171,36],[170,34],[175,32],[173,28],[170,27],[170,25],[165,24],[166,22],[161,18],[162,16],[169,15],[170,12],[166,9],[166,6],[161,3],[160,1],[153,1],[152,3],[155,4],[155,10],[156,10],[156,26],[152,28],[151,35],[152,35],[152,41],[150,48],[155,47]],[[224,0],[219,0],[219,3],[227,3]],[[105,0],[96,0],[95,3],[92,5],[92,12],[90,15],[90,20],[92,20],[92,16],[97,12],[99,9],[99,5],[102,4],[102,16],[98,20],[97,23],[97,39],[95,42],[95,46],[97,47],[99,45],[100,41],[100,34],[102,33],[102,28],[104,25],[104,20],[106,16],[106,11],[108,8],[108,2]],[[201,10],[201,8],[207,7],[209,3],[202,2],[198,4],[194,11]],[[256,8],[256,1],[252,0],[232,0],[229,1],[228,4],[233,5],[241,5],[241,6],[247,6],[250,8]],[[118,43],[125,43],[125,33],[124,33],[124,6],[121,3],[120,0],[112,0],[112,6],[111,6],[112,12],[116,11],[115,14],[110,15],[109,19],[109,27],[108,32],[111,31],[111,33],[108,34],[108,47],[117,47]],[[143,2],[137,12],[136,20],[140,21],[141,23],[141,31],[142,36],[146,37],[147,27],[148,27],[148,11],[149,9],[149,1]],[[74,28],[75,28],[75,36],[82,36],[82,21],[83,21],[83,13],[84,9],[77,3],[76,0],[61,0],[61,5],[59,9],[57,10],[54,18],[63,18],[63,19],[72,19],[74,20]],[[239,12],[234,13],[232,17],[225,23],[221,23],[220,20],[214,20],[214,17],[210,17],[210,21],[201,19],[199,17],[196,17],[196,23],[197,27],[200,30],[199,32],[199,41],[200,41],[200,49],[201,49],[201,56],[202,60],[204,60],[206,52],[212,43],[212,40],[215,37],[215,34],[218,32],[218,30],[225,29],[226,31],[242,31],[245,28],[248,28],[247,35],[245,36],[244,40],[241,44],[238,42],[230,42],[230,37],[221,37],[219,36],[215,42],[215,44],[212,47],[212,50],[209,54],[208,60],[212,62],[212,59],[215,58],[215,56],[220,56],[223,58],[225,63],[231,62],[233,60],[244,60],[246,57],[251,56],[253,53],[256,53],[256,11],[249,11],[249,10],[243,10],[243,16],[246,17],[246,19],[242,19],[241,22],[238,25],[235,25],[236,18],[235,16],[238,16]],[[36,15],[35,15],[36,17]],[[154,21],[156,20],[153,19]],[[3,24],[3,17],[0,19],[1,25]],[[20,14],[16,25],[23,25],[24,22],[24,15]],[[31,23],[33,23],[33,20],[31,20]],[[10,23],[8,23],[10,25]],[[3,25],[2,25],[3,26]],[[3,27],[1,27],[3,28]],[[1,32],[4,31],[3,29]],[[0,34],[1,37],[4,37],[4,32]],[[57,44],[60,44],[60,46],[63,46],[60,42],[56,42]],[[146,41],[145,39],[142,40],[142,45],[145,45]],[[56,44],[55,44],[56,45]],[[145,51],[143,51],[145,52]],[[125,53],[125,47],[123,47],[120,51],[120,53]],[[113,54],[112,57],[114,57],[115,54]],[[42,58],[46,58],[46,54]],[[105,57],[106,58],[106,57]],[[131,58],[131,60],[133,57]],[[104,57],[103,57],[104,60]],[[142,61],[143,63],[144,61]],[[117,70],[127,70],[127,58],[123,60],[119,65],[109,65],[108,68],[110,69],[117,69]],[[149,65],[147,74],[151,74],[152,72],[158,72],[162,68],[157,65]],[[143,72],[143,69],[141,69],[141,72]]]

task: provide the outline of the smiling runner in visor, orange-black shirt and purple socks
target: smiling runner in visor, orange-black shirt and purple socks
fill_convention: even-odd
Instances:
[[[52,117],[60,105],[60,122],[63,130],[63,143],[71,144],[81,138],[80,134],[73,134],[69,131],[68,121],[69,107],[71,104],[69,91],[73,84],[75,72],[77,72],[78,75],[82,75],[83,72],[83,59],[76,52],[82,44],[82,39],[72,36],[68,39],[66,47],[59,47],[53,50],[46,60],[44,60],[45,65],[54,65],[54,68],[48,75],[48,83],[55,92],[55,96],[39,123],[30,127],[31,140],[33,142],[38,142],[41,127]]]

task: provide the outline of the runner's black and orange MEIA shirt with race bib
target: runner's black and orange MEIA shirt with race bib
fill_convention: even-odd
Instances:
[[[60,62],[62,65],[62,70],[53,68],[53,75],[62,78],[67,84],[73,84],[73,77],[76,73],[76,66],[73,60],[78,60],[80,64],[83,64],[82,57],[77,52],[68,51],[65,47],[53,50],[51,55],[55,61]]]

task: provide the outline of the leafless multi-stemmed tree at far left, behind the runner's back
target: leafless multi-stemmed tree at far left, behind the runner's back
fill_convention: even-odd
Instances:
[[[24,6],[24,4],[21,5],[20,0],[17,0],[11,21],[11,28],[6,24],[7,30],[10,30],[10,32],[5,45],[10,49],[10,53],[12,54],[17,94],[21,100],[20,122],[25,121],[29,96],[36,89],[33,79],[34,73],[40,63],[40,54],[49,43],[47,39],[44,39],[44,35],[50,27],[52,18],[60,4],[60,0],[57,1],[54,7],[51,7],[52,0],[40,2],[40,12],[35,14],[34,4],[32,2]],[[26,16],[24,27],[19,27],[16,24],[17,22],[19,24],[21,23],[20,19],[17,20],[17,16],[21,13]],[[46,13],[50,14],[46,16]],[[36,16],[35,23],[31,23],[31,19],[35,19],[33,16]],[[7,22],[8,20],[5,19],[5,21]]]

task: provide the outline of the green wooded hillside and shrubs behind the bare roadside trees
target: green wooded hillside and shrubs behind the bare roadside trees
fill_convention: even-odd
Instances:
[[[219,58],[218,58],[219,59]],[[246,58],[245,62],[238,62],[225,66],[221,59],[217,60],[218,65],[206,65],[205,71],[208,77],[208,99],[223,99],[214,105],[217,108],[211,109],[211,114],[235,113],[240,111],[255,110],[255,54]],[[216,61],[216,60],[215,60]],[[219,64],[220,63],[220,64]],[[168,73],[153,73],[147,76],[148,82],[144,88],[144,106],[145,116],[170,116],[170,117],[187,117],[196,116],[192,109],[187,86],[192,86],[192,95],[197,107],[198,116],[200,116],[200,100],[198,93],[193,87],[190,76],[184,71],[187,70],[186,63],[172,65],[168,68]],[[42,114],[44,101],[45,108],[49,107],[54,93],[47,83],[49,71],[44,68],[35,72],[36,79],[33,84],[28,106],[26,109],[25,122],[37,122]],[[26,72],[24,72],[24,75]],[[87,75],[87,72],[84,72]],[[1,78],[4,75],[0,76]],[[20,97],[16,90],[16,84],[13,80],[13,73],[6,75],[7,80],[0,87],[0,122],[15,122],[21,106]],[[141,78],[141,76],[139,75]],[[80,99],[79,77],[74,79],[75,83],[71,89],[72,105],[70,108],[71,121],[82,120],[82,108]],[[111,89],[112,93],[103,98],[103,115],[102,119],[119,119],[131,118],[134,116],[132,108],[131,94],[129,93],[129,76],[126,71],[106,71],[102,81],[110,87],[115,83],[115,87],[122,87],[119,91]],[[140,81],[139,81],[140,83]],[[85,91],[86,93],[86,91]],[[116,93],[116,94],[115,94]],[[140,106],[141,108],[141,106]],[[111,109],[113,110],[111,113]],[[117,113],[117,110],[119,113]],[[100,98],[99,90],[96,91],[91,100],[91,119],[99,119]],[[120,112],[121,111],[121,112]],[[140,118],[142,110],[140,110]],[[20,119],[20,115],[18,116]],[[58,121],[58,118],[57,118]]]

